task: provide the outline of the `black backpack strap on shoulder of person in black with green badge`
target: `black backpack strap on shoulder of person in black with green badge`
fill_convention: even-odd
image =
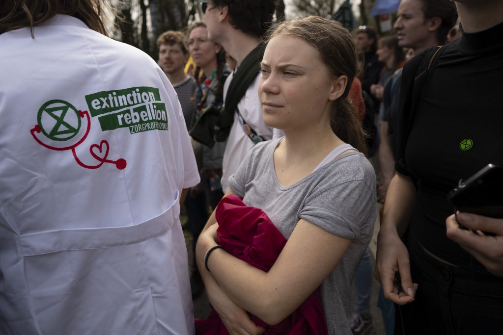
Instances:
[[[444,46],[430,48],[409,60],[403,67],[400,82],[399,116],[398,124],[398,150],[396,171],[410,175],[414,185],[416,178],[409,173],[405,162],[405,146],[407,144],[412,122],[423,92],[430,80],[433,70],[437,65]]]

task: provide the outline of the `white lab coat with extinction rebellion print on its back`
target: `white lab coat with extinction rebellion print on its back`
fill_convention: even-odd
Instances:
[[[0,333],[193,333],[199,175],[164,73],[64,15],[0,45]]]

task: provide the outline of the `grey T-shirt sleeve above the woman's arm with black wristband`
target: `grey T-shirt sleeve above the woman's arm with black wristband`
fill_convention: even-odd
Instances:
[[[359,239],[370,233],[375,196],[365,181],[347,181],[309,196],[299,217],[334,235]]]

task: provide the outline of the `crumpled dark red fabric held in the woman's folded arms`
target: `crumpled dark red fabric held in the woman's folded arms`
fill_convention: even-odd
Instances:
[[[218,242],[229,254],[263,271],[269,271],[287,240],[259,208],[246,206],[236,195],[218,203]],[[327,334],[321,298],[315,290],[290,316],[271,326],[248,313],[257,325],[266,328],[265,334]],[[196,334],[228,334],[220,317],[212,310],[208,319],[196,319]]]

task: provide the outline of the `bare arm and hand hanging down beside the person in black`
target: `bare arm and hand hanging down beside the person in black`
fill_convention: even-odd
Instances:
[[[414,196],[410,178],[396,173],[386,194],[377,239],[375,276],[381,282],[384,297],[400,305],[413,301],[417,288],[410,276],[407,248],[400,239],[409,225]],[[393,285],[396,272],[400,274],[401,292]]]

